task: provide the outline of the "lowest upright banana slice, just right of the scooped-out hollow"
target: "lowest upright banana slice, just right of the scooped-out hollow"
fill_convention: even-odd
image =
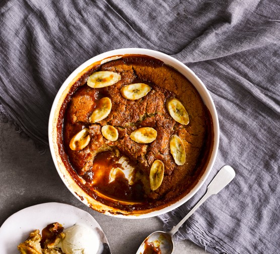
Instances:
[[[164,164],[161,160],[157,159],[152,164],[150,170],[150,187],[152,191],[157,190],[163,181],[164,177]]]

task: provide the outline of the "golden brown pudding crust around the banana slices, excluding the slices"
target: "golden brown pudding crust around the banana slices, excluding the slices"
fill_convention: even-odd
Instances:
[[[113,71],[121,79],[112,86],[91,88],[86,81],[96,71]],[[138,100],[127,100],[120,92],[131,83],[146,83],[151,91]],[[58,138],[61,156],[69,171],[84,179],[81,184],[89,195],[100,202],[121,210],[145,210],[164,206],[186,195],[203,173],[204,164],[212,149],[212,119],[192,84],[178,71],[160,60],[148,56],[127,56],[95,66],[76,84],[75,93],[65,100],[67,109],[61,114],[63,121],[61,137]],[[96,123],[90,122],[90,116],[101,98],[108,97],[112,107],[110,114]],[[189,115],[187,125],[176,122],[166,108],[169,98],[178,99]],[[64,112],[64,111],[63,111]],[[101,132],[104,125],[111,125],[118,131],[118,139],[110,141]],[[58,124],[58,129],[59,129]],[[151,143],[137,143],[130,134],[142,127],[152,127],[157,131],[156,139]],[[69,148],[72,137],[84,128],[89,129],[90,142],[81,150]],[[186,159],[183,165],[175,163],[170,152],[170,137],[177,135],[183,142]],[[66,154],[63,152],[65,151]],[[116,176],[110,182],[110,170],[116,166],[121,156],[129,158],[136,168],[133,184],[128,184],[123,175]],[[153,162],[164,163],[164,178],[160,187],[152,191],[149,188],[149,175]],[[96,176],[102,169],[103,178]],[[101,180],[100,180],[101,179]],[[96,191],[120,200],[140,201],[135,205],[119,205],[96,196]]]

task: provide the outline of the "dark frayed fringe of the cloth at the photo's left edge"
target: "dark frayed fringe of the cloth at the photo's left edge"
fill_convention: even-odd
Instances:
[[[36,149],[38,150],[39,154],[43,155],[46,153],[47,147],[33,139],[31,139],[23,130],[22,128],[9,116],[9,114],[4,109],[3,105],[0,104],[0,123],[8,123],[15,129],[15,132],[20,135],[21,138],[28,140],[32,140],[33,144],[35,145]]]

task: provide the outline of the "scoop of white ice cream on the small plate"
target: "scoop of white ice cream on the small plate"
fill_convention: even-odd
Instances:
[[[64,230],[65,238],[59,247],[66,254],[96,254],[100,240],[96,231],[84,225],[74,225]]]

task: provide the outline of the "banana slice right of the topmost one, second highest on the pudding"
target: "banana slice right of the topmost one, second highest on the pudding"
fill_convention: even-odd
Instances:
[[[121,95],[127,100],[138,100],[146,96],[151,91],[151,87],[145,83],[128,84],[121,88]]]

